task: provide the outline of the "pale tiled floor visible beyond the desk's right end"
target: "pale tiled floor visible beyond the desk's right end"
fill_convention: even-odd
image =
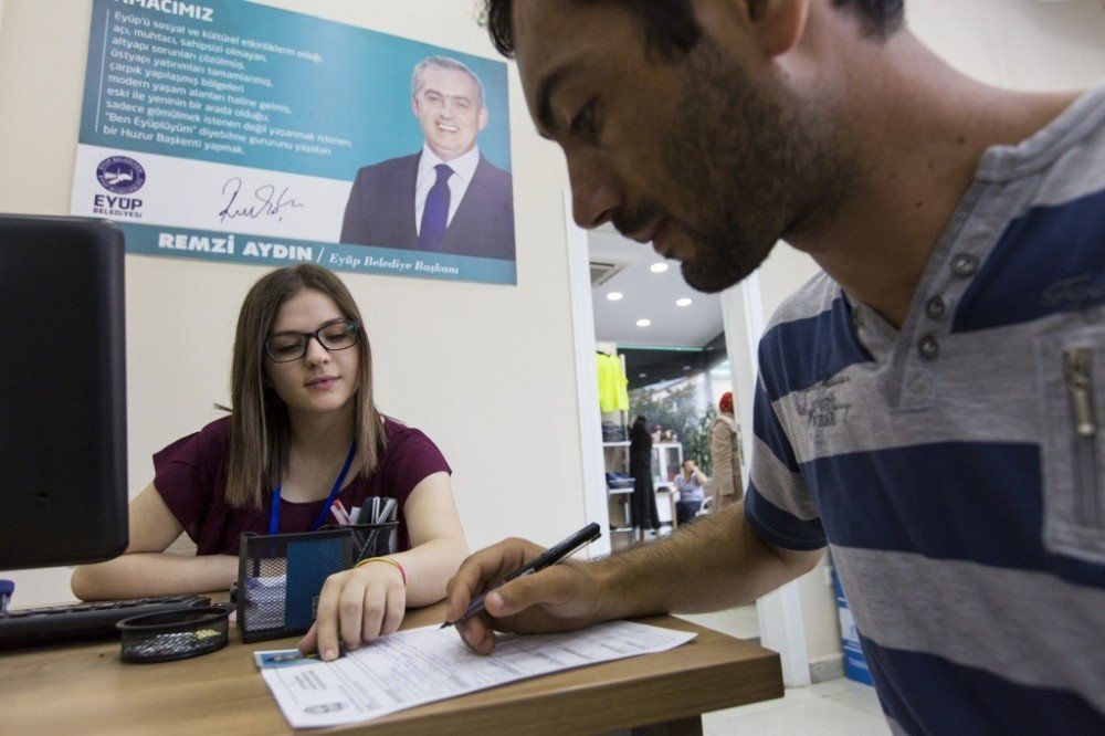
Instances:
[[[740,639],[759,635],[755,606],[681,618]],[[874,688],[844,677],[807,687],[788,687],[786,695],[775,701],[707,713],[702,717],[702,725],[703,733],[708,736],[885,736],[891,733]]]

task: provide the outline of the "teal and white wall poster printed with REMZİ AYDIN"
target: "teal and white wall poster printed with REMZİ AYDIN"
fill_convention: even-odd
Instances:
[[[515,284],[506,64],[242,0],[94,0],[71,212],[147,255]]]

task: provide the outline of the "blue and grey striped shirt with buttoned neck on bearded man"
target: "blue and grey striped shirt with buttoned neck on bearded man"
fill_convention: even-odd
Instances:
[[[745,513],[829,545],[897,733],[1105,733],[1105,85],[989,149],[895,329],[819,275],[759,347]]]

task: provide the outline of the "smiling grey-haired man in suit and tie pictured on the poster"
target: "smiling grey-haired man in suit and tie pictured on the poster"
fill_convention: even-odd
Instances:
[[[480,77],[428,56],[414,65],[411,109],[422,150],[357,171],[341,242],[513,261],[512,177],[476,145],[488,117]]]

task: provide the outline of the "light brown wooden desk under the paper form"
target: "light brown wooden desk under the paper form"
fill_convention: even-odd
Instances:
[[[443,620],[439,603],[403,628]],[[366,734],[572,734],[660,724],[641,733],[701,734],[701,714],[782,697],[779,656],[672,617],[688,644],[430,703],[351,726]],[[0,654],[0,734],[274,734],[291,730],[251,653],[294,639],[242,644],[159,664],[119,662],[118,642]]]

